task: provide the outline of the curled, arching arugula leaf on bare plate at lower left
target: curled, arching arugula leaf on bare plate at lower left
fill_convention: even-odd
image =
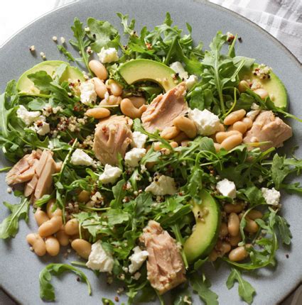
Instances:
[[[52,275],[61,275],[65,271],[74,272],[82,282],[86,282],[88,287],[88,294],[91,295],[91,285],[86,275],[78,270],[76,267],[67,265],[67,264],[49,264],[47,265],[39,275],[40,281],[40,297],[45,301],[54,301],[55,300],[55,289],[53,284],[50,283]]]

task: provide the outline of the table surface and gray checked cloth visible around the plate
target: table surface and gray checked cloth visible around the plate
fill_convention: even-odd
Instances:
[[[60,6],[78,0],[9,0],[1,1],[0,48],[6,40],[36,18]],[[143,1],[143,0],[142,0]],[[301,0],[210,0],[225,6],[257,23],[274,35],[302,62],[302,1]],[[28,42],[28,46],[31,42]],[[302,286],[282,302],[302,304]],[[0,289],[0,305],[16,305]]]

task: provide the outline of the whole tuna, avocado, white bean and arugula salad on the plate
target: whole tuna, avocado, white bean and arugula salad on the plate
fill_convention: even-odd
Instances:
[[[80,58],[54,36],[66,62],[41,52],[43,61],[0,95],[0,144],[13,162],[1,172],[20,197],[4,202],[11,214],[0,238],[14,238],[33,214],[33,255],[77,253],[78,261],[41,270],[45,301],[55,300],[51,277],[62,272],[91,294],[84,267],[119,283],[129,304],[164,304],[166,292],[172,304],[192,304],[193,293],[218,304],[203,267],[224,264],[227,288],[238,282],[252,304],[244,274],[275,266],[279,246],[291,243],[280,191],[301,194],[286,179],[302,161],[276,148],[293,134],[284,118],[301,120],[286,111],[271,67],[235,54],[244,43],[237,35],[217,32],[204,50],[169,13],[140,33],[117,15],[124,33],[75,18],[69,43]]]

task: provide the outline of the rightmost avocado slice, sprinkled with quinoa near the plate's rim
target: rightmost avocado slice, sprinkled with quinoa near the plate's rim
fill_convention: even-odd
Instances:
[[[274,72],[270,72],[269,79],[260,79],[256,75],[253,74],[253,70],[258,67],[258,64],[252,65],[252,68],[247,73],[242,73],[242,79],[250,79],[251,81],[260,82],[263,89],[269,92],[269,97],[271,101],[279,108],[286,110],[288,106],[288,99],[286,89],[284,87],[281,79],[274,74]]]

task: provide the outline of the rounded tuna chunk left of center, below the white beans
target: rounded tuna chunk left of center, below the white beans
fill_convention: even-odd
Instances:
[[[124,157],[132,142],[131,119],[110,116],[97,124],[92,150],[103,165],[117,165],[118,154]]]

